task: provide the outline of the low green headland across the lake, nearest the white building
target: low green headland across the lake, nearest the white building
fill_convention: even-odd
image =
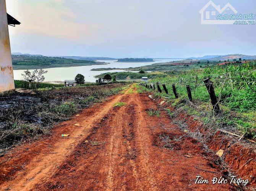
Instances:
[[[72,67],[72,66],[86,66],[86,65],[100,65],[102,62],[95,62],[90,60],[74,60],[61,57],[47,57],[47,56],[16,56],[12,55],[13,69],[41,69],[41,68],[55,68],[55,67]]]

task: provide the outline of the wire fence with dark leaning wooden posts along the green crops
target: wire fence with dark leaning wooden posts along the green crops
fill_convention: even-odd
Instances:
[[[192,74],[179,75],[175,78],[164,79],[154,83],[140,83],[149,90],[155,90],[157,92],[165,92],[166,94],[173,95],[177,99],[179,94],[188,95],[188,99],[207,99],[211,100],[212,106],[216,113],[220,112],[219,102],[222,97],[222,91],[224,88],[231,88],[233,90],[246,89],[250,91],[256,91],[256,70],[248,70],[246,72],[225,72],[225,73],[212,73],[209,77],[198,76]],[[203,88],[203,87],[206,88]],[[215,88],[217,89],[215,90]],[[162,90],[162,89],[164,90]],[[185,93],[186,92],[186,93]],[[219,95],[217,98],[216,93]],[[204,94],[204,96],[202,96]],[[193,96],[192,96],[193,95]],[[199,97],[196,97],[199,96]],[[217,101],[216,101],[217,100]]]

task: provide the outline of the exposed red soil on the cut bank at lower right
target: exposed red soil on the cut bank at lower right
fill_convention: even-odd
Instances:
[[[160,101],[159,101],[160,102]],[[185,121],[191,132],[199,131],[202,134],[209,134],[203,128],[203,124],[189,116],[186,113],[180,113],[176,119]],[[209,130],[208,130],[209,131]],[[239,175],[243,180],[248,179],[250,184],[248,186],[256,186],[256,152],[251,146],[242,145],[236,141],[239,137],[227,137],[217,131],[215,135],[212,135],[211,140],[207,143],[207,146],[217,152],[218,150],[224,150],[222,158],[228,167]]]

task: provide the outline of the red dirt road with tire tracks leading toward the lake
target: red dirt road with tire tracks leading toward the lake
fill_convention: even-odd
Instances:
[[[117,102],[126,103],[113,107]],[[220,169],[201,144],[183,137],[157,104],[130,88],[58,124],[50,135],[13,148],[0,162],[0,189],[230,190],[195,184]],[[80,126],[74,126],[79,123]],[[70,134],[61,137],[62,134]]]

